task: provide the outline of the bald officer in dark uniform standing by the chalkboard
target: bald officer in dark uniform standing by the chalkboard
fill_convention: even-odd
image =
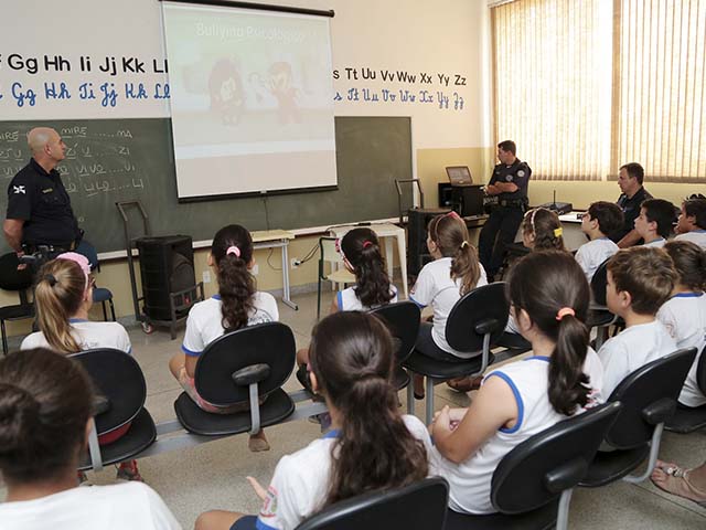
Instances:
[[[53,257],[75,250],[83,234],[56,170],[66,158],[66,145],[49,127],[30,130],[28,144],[32,158],[10,182],[2,230],[18,256],[43,246],[47,257]]]

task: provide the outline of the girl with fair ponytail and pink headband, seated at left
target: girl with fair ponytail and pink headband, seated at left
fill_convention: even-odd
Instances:
[[[130,338],[118,322],[93,322],[94,278],[86,256],[75,252],[60,254],[40,269],[34,290],[34,307],[40,331],[29,335],[21,350],[49,348],[60,353],[76,353],[95,348],[115,348],[131,353]],[[119,439],[130,424],[98,438],[101,445]],[[82,480],[85,475],[79,474]],[[137,460],[122,462],[117,478],[142,480]]]

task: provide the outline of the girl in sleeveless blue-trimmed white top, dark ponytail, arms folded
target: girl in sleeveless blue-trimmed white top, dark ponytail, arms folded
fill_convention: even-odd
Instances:
[[[450,485],[449,506],[492,513],[491,479],[515,446],[595,404],[602,384],[584,325],[590,290],[566,252],[532,253],[510,278],[512,312],[534,356],[493,370],[469,409],[445,406],[429,427],[431,474]]]

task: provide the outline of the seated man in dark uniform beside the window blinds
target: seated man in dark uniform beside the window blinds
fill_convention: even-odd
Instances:
[[[620,247],[628,248],[639,244],[642,237],[635,230],[635,219],[640,215],[640,205],[652,195],[642,187],[644,169],[638,162],[625,163],[620,168],[618,186],[620,198],[618,205],[623,213],[623,225],[618,232],[610,234],[610,239]]]

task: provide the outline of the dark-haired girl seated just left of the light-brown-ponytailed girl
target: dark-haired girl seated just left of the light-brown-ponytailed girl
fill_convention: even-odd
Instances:
[[[379,241],[371,229],[353,229],[336,241],[345,268],[355,275],[355,285],[340,290],[331,303],[330,314],[368,311],[397,301],[397,288],[389,282]],[[309,348],[297,352],[297,363],[309,362]],[[303,370],[303,369],[302,369]]]

